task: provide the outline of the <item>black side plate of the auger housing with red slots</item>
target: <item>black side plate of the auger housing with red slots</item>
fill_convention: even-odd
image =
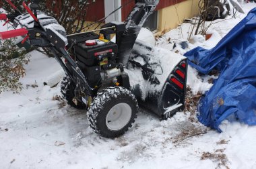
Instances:
[[[185,75],[184,78],[177,74],[178,69],[183,72]],[[183,87],[181,88],[176,83],[172,82],[170,80],[172,77],[179,80]],[[186,84],[187,60],[182,60],[174,70],[172,70],[169,78],[166,79],[166,83],[164,84],[162,91],[154,93],[154,95],[148,95],[145,101],[140,102],[140,105],[158,115],[160,119],[168,119],[177,113],[177,111],[183,111],[185,108]],[[168,111],[168,107],[172,106],[174,109],[170,109],[170,111]]]

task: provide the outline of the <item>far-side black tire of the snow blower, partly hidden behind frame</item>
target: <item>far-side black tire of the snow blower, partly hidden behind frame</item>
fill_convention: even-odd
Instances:
[[[71,82],[70,78],[65,76],[63,80],[61,81],[61,93],[63,97],[66,99],[67,104],[71,107],[74,107],[75,109],[86,109],[86,105],[82,103],[81,101],[77,101],[77,105],[73,103],[73,97],[75,96],[74,91],[75,90],[75,84]]]

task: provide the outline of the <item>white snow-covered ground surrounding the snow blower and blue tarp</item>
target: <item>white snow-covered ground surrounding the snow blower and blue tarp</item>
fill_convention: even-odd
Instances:
[[[256,3],[243,9],[253,7]],[[199,45],[212,48],[243,17],[212,25],[216,36]],[[177,28],[158,45],[172,49],[168,38],[186,39],[189,23],[182,28],[183,37]],[[88,125],[86,111],[63,106],[60,85],[43,86],[49,74],[61,69],[55,59],[30,54],[21,79],[24,90],[20,95],[0,95],[0,168],[256,168],[256,126],[225,122],[224,132],[218,133],[191,120],[190,112],[159,121],[141,109],[125,135],[98,137]],[[207,78],[202,80],[189,68],[188,85],[194,94],[211,87]]]

